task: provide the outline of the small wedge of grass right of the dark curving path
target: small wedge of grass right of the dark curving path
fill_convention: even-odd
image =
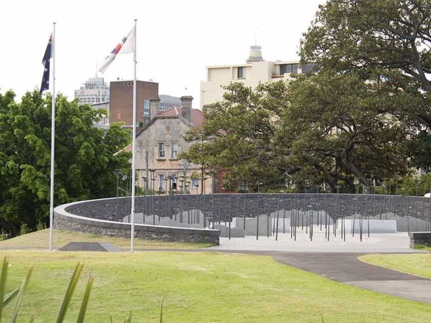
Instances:
[[[431,254],[366,255],[360,260],[404,273],[431,279]]]

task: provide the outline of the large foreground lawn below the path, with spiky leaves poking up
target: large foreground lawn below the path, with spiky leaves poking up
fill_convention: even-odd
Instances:
[[[10,262],[7,290],[31,266],[20,320],[53,322],[73,268],[83,277],[67,322],[75,322],[84,285],[95,277],[86,322],[428,322],[431,307],[355,288],[282,265],[270,257],[219,253],[0,250]],[[12,306],[6,309],[8,319]],[[5,322],[7,320],[4,320]],[[20,321],[21,322],[21,321]]]

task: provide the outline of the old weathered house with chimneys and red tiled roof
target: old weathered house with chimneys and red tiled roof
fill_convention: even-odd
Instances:
[[[211,193],[212,178],[201,165],[178,158],[192,145],[183,135],[203,123],[202,111],[192,108],[193,97],[183,96],[181,106],[159,113],[160,99],[149,100],[150,121],[136,135],[137,184],[159,194],[181,193],[181,189],[190,194]],[[125,150],[131,151],[131,146]]]

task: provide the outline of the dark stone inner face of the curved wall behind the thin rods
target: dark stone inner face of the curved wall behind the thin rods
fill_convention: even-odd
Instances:
[[[390,220],[394,216],[402,218],[409,216],[421,220],[419,227],[413,230],[422,231],[431,230],[430,200],[422,196],[332,193],[161,195],[137,197],[135,210],[146,215],[171,217],[181,210],[185,212],[198,208],[205,212],[207,217],[214,216],[216,222],[236,216],[269,215],[278,208],[308,213],[313,211],[316,216],[319,212],[328,214],[332,220],[353,216],[355,213],[382,220]],[[68,211],[91,218],[122,221],[130,213],[130,202],[131,198],[127,197],[88,201],[85,204],[73,205]],[[408,231],[408,227],[405,227],[405,230],[400,228],[399,231]]]

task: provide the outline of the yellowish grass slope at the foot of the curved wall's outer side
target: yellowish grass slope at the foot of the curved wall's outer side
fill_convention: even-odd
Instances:
[[[65,244],[75,242],[108,242],[119,248],[130,248],[130,239],[108,237],[103,235],[88,234],[54,230],[52,244],[54,248],[60,248]],[[0,248],[48,248],[49,229],[24,234],[15,238],[0,241]],[[211,247],[211,243],[191,242],[166,242],[159,240],[135,239],[135,248],[139,249],[199,249]]]

